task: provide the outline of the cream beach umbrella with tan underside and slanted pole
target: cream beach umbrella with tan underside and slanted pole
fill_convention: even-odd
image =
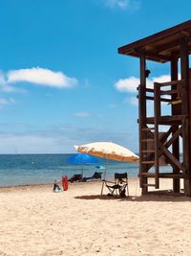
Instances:
[[[117,160],[121,162],[138,163],[138,155],[133,151],[130,151],[113,142],[94,142],[84,144],[81,146],[75,146],[76,151],[82,153],[88,153],[98,157],[106,158],[108,160]],[[104,172],[104,178],[106,177],[107,164]],[[104,181],[102,183],[101,195],[103,192]]]

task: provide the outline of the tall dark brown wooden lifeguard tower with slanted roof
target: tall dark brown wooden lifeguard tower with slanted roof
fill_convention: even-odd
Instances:
[[[180,193],[182,179],[182,191],[191,197],[191,20],[122,46],[118,53],[139,58],[139,181],[142,194],[146,194],[150,186],[159,189],[160,178],[171,178],[174,193]],[[169,62],[170,81],[154,82],[153,88],[148,87],[147,59]],[[150,101],[154,106],[152,117],[147,113]],[[169,115],[162,114],[163,105],[169,106]],[[165,132],[161,133],[161,128]],[[171,172],[160,171],[162,155],[172,166]]]

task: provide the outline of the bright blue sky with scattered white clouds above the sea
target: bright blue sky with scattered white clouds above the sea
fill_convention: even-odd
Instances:
[[[0,153],[70,153],[96,141],[138,152],[139,60],[117,48],[189,20],[191,1],[0,4]],[[168,80],[168,64],[147,67],[148,82]]]

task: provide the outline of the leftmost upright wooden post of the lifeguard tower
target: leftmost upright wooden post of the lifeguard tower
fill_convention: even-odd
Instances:
[[[142,151],[146,150],[146,142],[142,142],[145,139],[145,132],[142,132],[142,128],[146,127],[146,79],[145,79],[145,53],[144,50],[140,52],[140,86],[138,97],[138,119],[139,119],[139,175],[140,175],[140,187],[142,188],[142,194],[148,192],[147,177],[143,177],[142,173],[146,173],[146,165],[142,164]]]

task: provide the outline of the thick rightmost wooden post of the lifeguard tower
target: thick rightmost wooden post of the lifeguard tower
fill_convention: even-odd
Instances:
[[[182,85],[182,114],[188,115],[182,121],[182,142],[183,142],[183,165],[186,170],[184,178],[184,194],[191,197],[191,170],[190,170],[190,115],[189,115],[189,60],[188,40],[186,36],[180,37],[180,67]]]

